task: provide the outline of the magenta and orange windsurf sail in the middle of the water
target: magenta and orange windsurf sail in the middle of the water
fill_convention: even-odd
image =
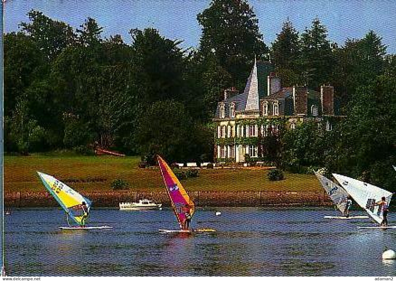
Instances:
[[[188,196],[186,190],[183,188],[173,171],[168,164],[160,156],[157,156],[158,165],[162,179],[164,180],[166,192],[168,193],[173,212],[177,218],[177,222],[181,229],[187,216],[192,216],[195,211],[194,202]]]

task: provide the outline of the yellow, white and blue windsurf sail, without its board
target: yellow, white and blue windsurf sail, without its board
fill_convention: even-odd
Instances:
[[[59,205],[61,205],[72,221],[82,225],[82,218],[84,215],[82,202],[85,202],[89,211],[91,208],[91,201],[60,180],[44,173],[37,173],[49,193],[55,198]]]

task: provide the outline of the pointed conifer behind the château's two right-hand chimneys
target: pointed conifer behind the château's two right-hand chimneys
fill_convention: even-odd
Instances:
[[[312,21],[311,29],[305,29],[300,38],[301,75],[308,87],[318,89],[330,82],[334,58],[327,40],[327,29],[318,18]]]

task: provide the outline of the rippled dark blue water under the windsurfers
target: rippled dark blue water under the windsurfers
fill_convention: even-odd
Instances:
[[[221,215],[216,216],[215,212]],[[194,228],[215,234],[169,235],[170,209],[92,209],[89,225],[110,230],[61,231],[59,209],[17,209],[4,216],[4,260],[9,276],[169,275],[396,275],[396,230],[358,229],[368,219],[325,219],[331,207],[197,209]],[[354,211],[354,215],[364,215]],[[391,225],[395,214],[388,215]],[[393,217],[393,218],[392,218]]]

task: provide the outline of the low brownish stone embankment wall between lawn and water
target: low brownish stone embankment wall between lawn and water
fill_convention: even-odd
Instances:
[[[260,206],[328,206],[332,205],[325,192],[307,191],[195,191],[187,192],[197,207],[260,207]],[[95,207],[117,207],[120,202],[137,202],[147,198],[169,207],[166,192],[108,191],[85,192]],[[5,208],[56,207],[49,192],[4,193]]]

